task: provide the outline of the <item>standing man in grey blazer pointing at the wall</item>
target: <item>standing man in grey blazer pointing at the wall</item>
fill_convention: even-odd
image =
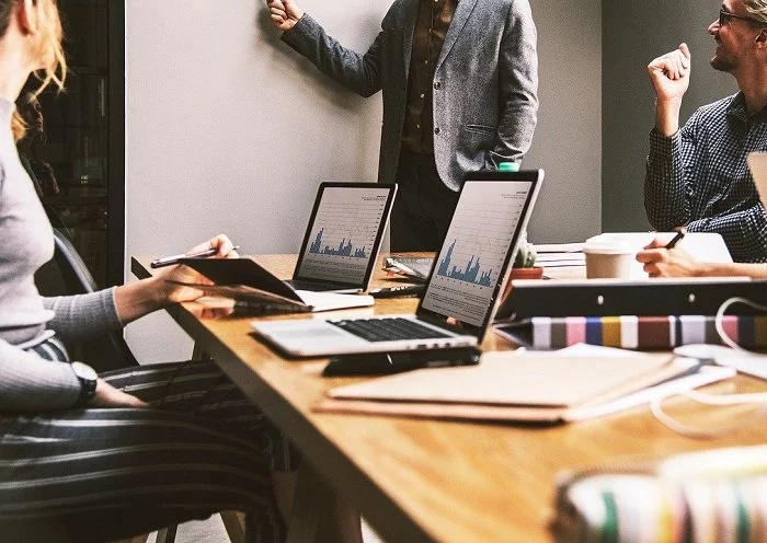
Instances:
[[[467,172],[519,162],[538,111],[528,0],[396,0],[365,55],[293,0],[266,0],[282,39],[352,91],[384,91],[378,181],[399,183],[392,251],[436,251]]]

